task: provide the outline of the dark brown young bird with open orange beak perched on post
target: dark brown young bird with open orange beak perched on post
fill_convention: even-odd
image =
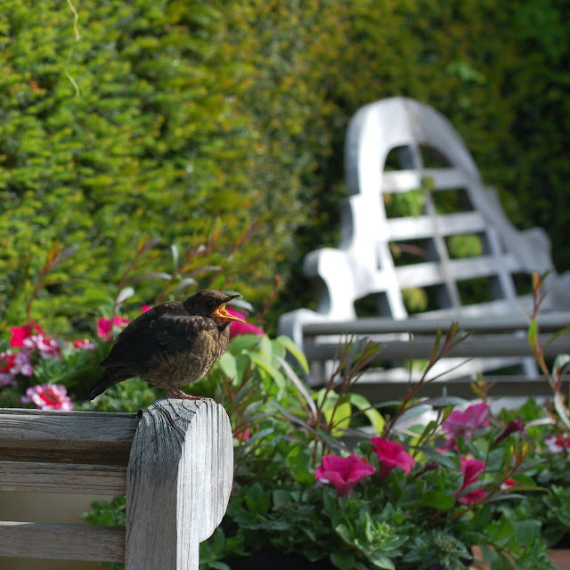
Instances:
[[[227,296],[202,289],[185,301],[167,301],[130,322],[118,335],[102,362],[102,379],[86,394],[93,400],[108,387],[140,376],[171,394],[190,400],[179,386],[202,378],[225,352],[230,323],[244,322],[229,314],[225,305],[240,295]]]

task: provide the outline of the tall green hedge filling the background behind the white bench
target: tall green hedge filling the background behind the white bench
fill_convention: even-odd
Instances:
[[[259,306],[281,273],[273,322],[309,304],[299,267],[338,234],[346,123],[394,94],[442,110],[511,219],[544,226],[570,266],[562,0],[74,6],[78,39],[67,3],[4,0],[0,12],[4,326],[23,318],[53,240],[77,252],[34,315],[65,330],[113,293],[136,236],[159,239],[164,256],[148,263],[160,268],[216,217],[226,249],[258,220],[226,285]]]

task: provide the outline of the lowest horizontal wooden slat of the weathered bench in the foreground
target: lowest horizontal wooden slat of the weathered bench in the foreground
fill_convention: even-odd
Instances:
[[[0,555],[122,562],[125,559],[125,529],[121,526],[4,521],[0,522]]]

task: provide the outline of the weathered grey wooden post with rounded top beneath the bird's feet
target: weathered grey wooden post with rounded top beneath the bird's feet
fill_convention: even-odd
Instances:
[[[212,400],[168,398],[142,415],[126,476],[126,570],[197,570],[232,491],[232,428]]]

